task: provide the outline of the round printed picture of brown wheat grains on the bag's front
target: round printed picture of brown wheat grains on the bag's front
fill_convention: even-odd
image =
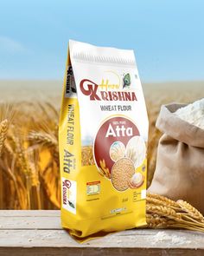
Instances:
[[[118,191],[124,191],[129,188],[129,181],[135,174],[133,162],[128,158],[121,158],[114,163],[112,167],[112,185]]]

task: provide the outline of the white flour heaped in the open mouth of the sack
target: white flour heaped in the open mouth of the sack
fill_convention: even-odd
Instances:
[[[182,120],[204,129],[204,98],[175,111]]]

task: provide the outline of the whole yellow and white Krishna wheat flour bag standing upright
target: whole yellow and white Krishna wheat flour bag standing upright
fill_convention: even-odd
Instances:
[[[61,224],[78,240],[145,225],[148,117],[132,50],[69,42]]]

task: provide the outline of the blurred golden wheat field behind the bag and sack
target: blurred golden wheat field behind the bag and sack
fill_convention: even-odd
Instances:
[[[0,82],[0,209],[60,207],[61,90],[62,82]],[[150,121],[150,186],[161,136],[155,128],[161,105],[201,99],[204,82],[146,83],[143,90]]]

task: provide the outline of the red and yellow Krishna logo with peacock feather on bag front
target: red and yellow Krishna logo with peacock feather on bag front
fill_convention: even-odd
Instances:
[[[109,79],[102,79],[101,83],[97,84],[89,79],[83,79],[80,82],[81,92],[90,97],[91,101],[137,101],[137,95],[130,90],[131,75],[124,75],[123,86],[118,83],[110,83]],[[128,91],[126,89],[129,89]]]

